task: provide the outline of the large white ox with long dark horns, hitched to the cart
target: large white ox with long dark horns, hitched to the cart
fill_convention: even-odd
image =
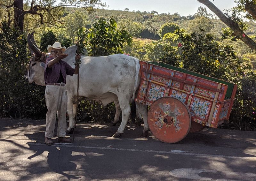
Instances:
[[[33,33],[28,34],[28,47],[32,57],[26,67],[24,78],[29,83],[45,86],[44,66],[45,53],[41,52],[34,40]],[[76,46],[70,46],[65,53],[68,57],[63,61],[74,68]],[[47,54],[46,54],[47,55]],[[135,92],[140,85],[139,60],[123,54],[103,57],[81,56],[82,63],[79,69],[79,99],[95,100],[106,106],[115,102],[116,115],[111,122],[115,125],[122,111],[122,122],[113,135],[120,137],[131,113],[130,102],[134,100]],[[76,101],[77,101],[77,75],[67,76],[68,116],[69,125],[67,132],[73,132],[75,127]],[[136,103],[137,116],[143,116],[143,136],[148,136],[147,106]],[[141,114],[140,114],[141,113]]]

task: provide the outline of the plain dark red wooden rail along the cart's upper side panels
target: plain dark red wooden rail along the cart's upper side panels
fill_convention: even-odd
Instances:
[[[146,72],[146,69],[144,69],[144,68],[141,68],[141,70],[142,70],[142,72]],[[208,90],[212,90],[212,91],[215,91],[215,92],[224,93],[224,91],[221,90],[221,89],[216,89],[216,88],[213,88],[213,87],[208,87],[208,86],[196,83],[196,82],[191,82],[191,81],[188,81],[188,80],[185,80],[185,79],[180,79],[180,78],[173,77],[173,76],[170,76],[170,75],[163,75],[163,74],[160,74],[160,73],[157,73],[157,72],[153,72],[153,71],[150,71],[150,70],[148,70],[148,73],[151,73],[151,74],[154,74],[154,75],[158,75],[158,76],[161,76],[161,77],[164,77],[164,78],[167,78],[167,79],[173,79],[173,80],[176,80],[176,81],[180,81],[180,82],[183,82],[183,83],[186,83],[186,84],[196,85],[196,86],[199,86],[199,87],[202,87],[202,88],[206,88]]]

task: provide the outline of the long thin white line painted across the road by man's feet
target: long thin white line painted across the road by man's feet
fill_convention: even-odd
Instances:
[[[37,146],[47,146],[43,143],[29,143],[29,145]],[[208,154],[197,154],[197,153],[187,153],[183,150],[172,150],[172,151],[156,151],[156,150],[140,150],[140,149],[125,149],[125,148],[113,148],[113,147],[86,147],[86,146],[76,146],[66,143],[55,143],[52,147],[73,147],[73,148],[88,148],[88,149],[103,149],[103,150],[118,150],[118,151],[134,151],[134,152],[147,152],[147,153],[162,153],[162,154],[177,154],[177,155],[191,155],[191,156],[205,156],[205,157],[221,157],[221,158],[234,158],[234,159],[247,159],[256,160],[255,157],[242,157],[242,156],[228,156],[228,155],[208,155]],[[47,146],[49,147],[49,146]]]

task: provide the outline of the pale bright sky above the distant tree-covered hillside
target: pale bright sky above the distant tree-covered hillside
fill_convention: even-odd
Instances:
[[[199,3],[197,0],[101,0],[105,2],[107,6],[104,9],[108,10],[124,10],[128,8],[129,11],[157,11],[158,14],[168,13],[174,14],[178,12],[181,16],[194,15],[197,8],[204,4]],[[235,6],[234,0],[214,0],[211,1],[217,6],[222,12],[224,9],[230,9]],[[207,7],[207,12],[214,14]]]

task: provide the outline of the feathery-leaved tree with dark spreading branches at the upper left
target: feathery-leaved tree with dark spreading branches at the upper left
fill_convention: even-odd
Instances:
[[[32,19],[36,20],[38,24],[55,24],[56,22],[60,22],[59,16],[65,7],[80,7],[89,12],[92,11],[91,7],[94,5],[105,6],[105,3],[101,3],[100,0],[61,0],[58,2],[57,4],[56,0],[0,0],[0,5],[7,9],[8,23],[11,24],[13,22],[14,27],[19,28],[20,32],[23,32],[24,16],[28,14],[31,15]],[[30,4],[30,6],[28,4]],[[14,18],[12,18],[12,12],[9,11],[10,9],[14,11]],[[14,21],[12,21],[12,19]]]

